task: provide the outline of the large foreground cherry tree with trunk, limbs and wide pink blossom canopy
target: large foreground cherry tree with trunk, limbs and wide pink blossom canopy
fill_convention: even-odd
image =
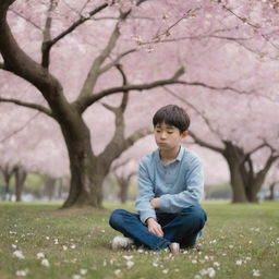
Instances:
[[[135,90],[149,90],[156,104],[158,96],[162,98],[156,88],[173,84],[175,92],[187,93],[187,97],[197,94],[205,106],[211,99],[208,92],[229,96],[226,101],[234,94],[278,100],[272,74],[278,70],[278,5],[252,2],[138,0],[71,5],[66,1],[27,1],[28,9],[12,0],[0,3],[0,68],[32,84],[34,95],[40,93],[41,98],[38,104],[33,98],[1,96],[0,101],[36,109],[59,124],[72,174],[65,207],[100,206],[100,178],[137,138],[134,130],[124,131],[124,114],[136,112],[125,105]],[[118,93],[122,97],[114,98]],[[135,102],[143,94],[133,97],[137,100],[131,107],[138,105],[138,116],[143,108],[154,109],[150,96],[142,106]],[[88,108],[105,97],[116,130],[97,155],[87,116]],[[223,107],[222,101],[218,106]],[[97,122],[101,116],[94,117],[90,121]]]

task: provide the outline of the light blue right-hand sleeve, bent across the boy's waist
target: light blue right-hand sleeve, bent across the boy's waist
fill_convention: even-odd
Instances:
[[[191,205],[198,205],[204,191],[204,172],[198,158],[194,158],[185,173],[186,189],[178,194],[160,196],[160,210],[179,213]]]

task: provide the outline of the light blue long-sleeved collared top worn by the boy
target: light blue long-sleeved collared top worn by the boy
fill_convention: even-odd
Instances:
[[[149,217],[157,219],[156,211],[175,214],[199,205],[203,191],[203,167],[193,151],[181,146],[175,160],[166,165],[157,149],[140,162],[135,209],[145,223]],[[154,197],[160,197],[160,208],[156,210],[149,203]]]

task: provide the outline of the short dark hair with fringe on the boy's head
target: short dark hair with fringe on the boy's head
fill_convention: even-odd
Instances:
[[[168,105],[159,110],[153,117],[153,125],[166,123],[179,129],[180,133],[186,131],[190,126],[190,117],[186,111],[177,105]]]

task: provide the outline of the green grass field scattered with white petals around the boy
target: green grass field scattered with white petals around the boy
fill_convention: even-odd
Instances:
[[[111,251],[117,232],[109,213],[123,206],[105,206],[60,210],[56,204],[0,203],[0,278],[279,278],[279,203],[204,204],[202,252],[177,257]]]

